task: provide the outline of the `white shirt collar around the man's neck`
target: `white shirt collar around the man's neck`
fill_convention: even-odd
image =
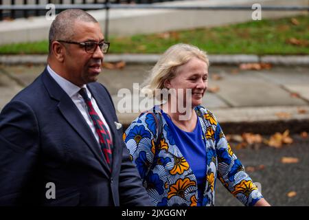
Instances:
[[[51,67],[49,67],[49,65],[47,65],[47,71],[52,76],[52,78],[56,80],[56,83],[58,83],[58,85],[60,85],[60,87],[68,94],[70,98],[72,98],[72,96],[76,95],[78,91],[80,91],[81,89],[80,87],[74,85],[69,80],[66,80],[65,78],[61,77],[59,74],[54,72],[54,70]],[[86,85],[82,85],[82,87],[86,88],[87,94],[89,94]]]

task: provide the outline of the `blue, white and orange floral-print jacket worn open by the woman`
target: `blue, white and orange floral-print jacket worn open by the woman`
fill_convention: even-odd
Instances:
[[[253,206],[262,195],[231,151],[216,118],[204,107],[198,106],[195,111],[202,126],[207,153],[203,206],[214,206],[217,178],[245,206]],[[150,113],[141,113],[124,133],[124,142],[150,201],[154,206],[196,206],[196,177],[164,118],[163,137],[155,147],[157,135],[157,124]]]

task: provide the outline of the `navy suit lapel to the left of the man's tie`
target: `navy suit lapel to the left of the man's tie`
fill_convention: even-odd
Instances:
[[[104,163],[104,155],[98,145],[98,142],[95,140],[95,137],[89,128],[89,125],[84,120],[82,114],[73,103],[71,98],[63,91],[63,89],[56,83],[56,81],[49,75],[47,70],[42,75],[43,83],[49,92],[51,98],[54,98],[59,101],[58,109],[62,113],[63,117],[71,124],[72,128],[82,137],[82,140],[86,142],[89,146],[92,153],[98,159],[104,170],[109,172],[108,165]],[[104,173],[106,173],[104,172]]]

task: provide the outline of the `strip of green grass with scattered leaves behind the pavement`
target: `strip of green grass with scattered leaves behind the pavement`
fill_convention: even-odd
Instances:
[[[295,40],[291,43],[291,39]],[[109,53],[114,54],[160,54],[175,43],[190,43],[209,54],[309,54],[309,23],[308,16],[302,15],[293,19],[263,19],[217,28],[111,36],[109,41]],[[0,54],[47,52],[47,41],[0,46]]]

